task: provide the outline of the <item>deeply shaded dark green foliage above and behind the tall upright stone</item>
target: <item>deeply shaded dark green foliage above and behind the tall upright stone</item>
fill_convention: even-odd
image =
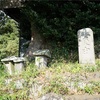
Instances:
[[[95,38],[100,35],[100,3],[88,0],[33,0],[22,9],[23,22],[33,23],[40,33],[56,45],[77,50],[77,31],[89,27]],[[23,27],[28,26],[23,23]]]

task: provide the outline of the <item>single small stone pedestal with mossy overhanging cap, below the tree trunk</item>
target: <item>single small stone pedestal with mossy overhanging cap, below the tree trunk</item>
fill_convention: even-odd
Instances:
[[[33,53],[35,56],[35,65],[39,68],[47,67],[48,58],[51,57],[49,50],[38,50]]]

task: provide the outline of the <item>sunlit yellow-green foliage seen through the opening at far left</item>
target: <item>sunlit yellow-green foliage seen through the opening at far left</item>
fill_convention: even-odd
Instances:
[[[18,54],[18,23],[0,12],[0,60]]]

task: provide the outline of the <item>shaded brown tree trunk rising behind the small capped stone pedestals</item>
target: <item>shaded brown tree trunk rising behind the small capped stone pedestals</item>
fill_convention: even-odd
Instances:
[[[34,24],[31,23],[31,42],[26,52],[26,57],[32,58],[33,52],[43,49],[43,38],[37,31]]]

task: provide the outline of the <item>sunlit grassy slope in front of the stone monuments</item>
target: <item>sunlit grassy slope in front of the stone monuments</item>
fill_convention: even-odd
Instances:
[[[9,85],[4,85],[4,80],[6,78],[12,78],[12,80],[23,78],[26,81],[27,85],[24,89],[17,90],[13,82],[11,82],[11,84]],[[92,83],[93,85],[91,86],[87,84],[84,89],[80,88],[78,86],[79,83],[86,82],[86,80],[87,83]],[[71,87],[68,85],[68,82],[70,84],[74,83],[74,85]],[[31,63],[27,64],[26,71],[24,71],[21,75],[15,76],[5,75],[5,73],[1,71],[0,97],[16,98],[16,96],[23,97],[23,95],[25,97],[25,94],[29,90],[29,87],[32,83],[43,84],[43,90],[39,93],[40,95],[43,95],[48,92],[54,92],[61,95],[84,93],[100,94],[100,60],[96,60],[95,66],[82,66],[77,62],[55,62],[51,64],[49,68],[39,70],[33,63]],[[13,93],[8,93],[9,90],[13,91]],[[27,98],[27,96],[25,98]]]

